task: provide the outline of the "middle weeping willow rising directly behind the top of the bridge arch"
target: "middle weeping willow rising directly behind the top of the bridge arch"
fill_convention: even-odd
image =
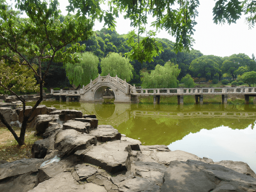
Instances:
[[[133,77],[132,71],[134,70],[130,60],[128,58],[122,57],[118,53],[111,52],[105,58],[102,59],[100,63],[102,69],[102,76],[118,76],[127,82],[131,81]]]

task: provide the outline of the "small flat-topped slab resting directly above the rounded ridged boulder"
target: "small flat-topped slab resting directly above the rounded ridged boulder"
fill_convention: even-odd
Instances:
[[[74,129],[76,131],[89,134],[91,128],[90,123],[88,122],[69,120],[63,124],[63,130],[66,129]]]

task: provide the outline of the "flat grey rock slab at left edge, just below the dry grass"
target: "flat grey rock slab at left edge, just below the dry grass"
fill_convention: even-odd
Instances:
[[[37,172],[44,162],[42,159],[22,159],[0,165],[0,181],[7,177],[16,177],[29,172]]]

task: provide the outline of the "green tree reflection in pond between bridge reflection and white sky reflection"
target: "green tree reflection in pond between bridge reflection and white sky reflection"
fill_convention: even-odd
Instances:
[[[201,129],[211,130],[222,125],[232,129],[244,129],[254,122],[255,119],[136,117],[119,125],[118,130],[127,134],[127,137],[140,138],[145,145],[169,145]]]

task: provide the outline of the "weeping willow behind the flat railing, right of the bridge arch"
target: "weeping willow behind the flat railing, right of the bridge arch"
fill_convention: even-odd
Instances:
[[[170,61],[166,62],[164,66],[157,65],[155,70],[147,71],[141,70],[141,87],[143,88],[176,88],[179,85],[177,80],[180,74],[180,69],[177,64]]]

